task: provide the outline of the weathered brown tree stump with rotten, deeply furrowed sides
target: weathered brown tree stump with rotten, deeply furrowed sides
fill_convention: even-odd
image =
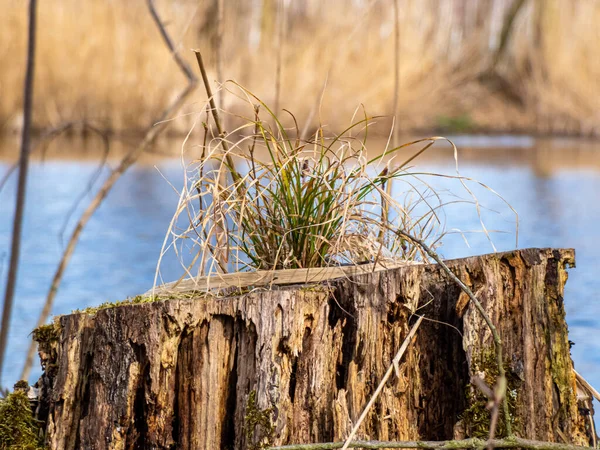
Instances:
[[[568,264],[572,250],[551,249],[448,262],[503,338],[516,434],[588,445],[563,307]],[[53,449],[246,449],[341,440],[415,310],[428,320],[359,437],[485,436],[489,413],[469,380],[476,373],[494,380],[490,332],[437,265],[411,265],[64,316],[58,340],[41,346],[47,442]]]

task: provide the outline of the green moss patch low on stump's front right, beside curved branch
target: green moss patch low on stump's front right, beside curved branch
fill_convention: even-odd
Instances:
[[[504,371],[506,373],[506,398],[508,400],[511,427],[513,433],[518,433],[520,430],[520,423],[516,416],[516,409],[518,404],[517,390],[520,380],[506,363],[504,364]],[[484,351],[479,357],[473,357],[473,372],[483,373],[484,381],[488,386],[493,388],[499,375],[496,353],[493,349]],[[489,400],[473,385],[467,386],[466,397],[468,407],[462,413],[460,418],[465,425],[467,435],[473,438],[487,439],[490,433],[491,419],[491,413],[487,409]],[[506,436],[506,424],[502,408],[498,415],[496,436]]]

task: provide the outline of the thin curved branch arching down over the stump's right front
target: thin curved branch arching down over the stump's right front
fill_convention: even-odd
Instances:
[[[475,305],[475,308],[477,309],[477,311],[479,312],[479,314],[481,315],[481,317],[483,318],[483,320],[485,321],[485,323],[487,324],[488,328],[490,329],[490,331],[492,333],[492,337],[494,339],[494,344],[496,346],[496,361],[498,364],[498,376],[501,380],[502,379],[506,380],[506,374],[505,374],[505,370],[504,370],[504,357],[502,355],[502,339],[500,339],[500,335],[498,334],[498,330],[496,329],[496,326],[494,325],[494,323],[488,316],[485,309],[483,309],[483,306],[481,306],[481,303],[479,303],[479,300],[477,300],[477,297],[475,296],[473,291],[471,289],[469,289],[469,287],[466,284],[464,284],[461,281],[461,279],[458,278],[454,274],[454,272],[452,272],[448,268],[448,266],[444,263],[444,261],[442,261],[442,259],[439,257],[439,255],[436,252],[434,252],[431,248],[429,248],[429,246],[427,244],[425,244],[425,242],[423,242],[422,240],[420,240],[414,236],[411,236],[410,234],[408,234],[402,230],[396,230],[396,233],[398,235],[414,242],[419,247],[421,247],[425,251],[425,253],[427,253],[431,258],[433,258],[433,260],[436,263],[439,264],[439,266],[442,268],[442,270],[444,272],[446,272],[446,274],[462,289],[462,291],[469,296],[469,298]],[[506,390],[506,383],[504,384],[504,387]],[[504,413],[506,434],[508,436],[512,436],[511,418],[510,418],[510,411],[508,409],[508,400],[506,398],[506,391],[504,392],[504,396],[502,399],[502,409],[503,409],[503,413]]]

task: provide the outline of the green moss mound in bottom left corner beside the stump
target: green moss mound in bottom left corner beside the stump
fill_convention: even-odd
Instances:
[[[0,450],[41,450],[40,426],[22,390],[0,400]]]

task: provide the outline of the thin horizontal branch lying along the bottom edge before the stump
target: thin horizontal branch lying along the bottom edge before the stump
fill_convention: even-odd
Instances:
[[[324,442],[322,444],[295,444],[269,447],[268,450],[329,450],[342,448],[343,442]],[[591,450],[592,447],[570,445],[555,442],[533,441],[518,437],[506,439],[494,439],[484,441],[483,439],[471,438],[452,441],[352,441],[349,448],[383,449],[383,448],[418,448],[430,450],[457,450],[457,449],[481,449],[486,446],[492,448],[525,448],[530,450]]]

